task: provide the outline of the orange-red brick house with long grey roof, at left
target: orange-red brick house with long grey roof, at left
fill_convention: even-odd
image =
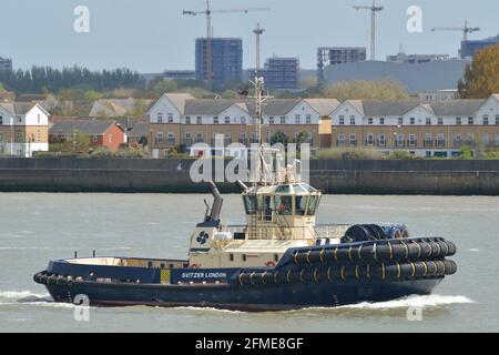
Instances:
[[[49,130],[49,142],[72,141],[78,131],[89,134],[90,146],[116,151],[126,142],[125,132],[116,121],[96,119],[58,121]]]

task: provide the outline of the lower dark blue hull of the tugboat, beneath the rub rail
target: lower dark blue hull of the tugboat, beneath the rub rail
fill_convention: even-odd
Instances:
[[[78,294],[92,305],[200,306],[241,311],[279,311],[303,307],[333,307],[360,302],[381,302],[407,295],[427,295],[442,280],[403,282],[292,284],[265,287],[220,285],[136,285],[84,282],[47,285],[57,302],[72,302]]]

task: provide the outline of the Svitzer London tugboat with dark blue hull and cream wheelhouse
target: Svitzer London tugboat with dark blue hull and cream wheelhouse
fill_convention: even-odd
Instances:
[[[263,79],[255,78],[256,135],[262,136]],[[86,295],[101,306],[197,306],[284,311],[427,295],[456,253],[444,237],[409,237],[404,224],[317,224],[322,194],[301,180],[301,164],[272,166],[258,148],[252,185],[238,181],[245,225],[221,220],[223,199],[191,235],[189,258],[74,257],[49,262],[33,280],[54,302]]]

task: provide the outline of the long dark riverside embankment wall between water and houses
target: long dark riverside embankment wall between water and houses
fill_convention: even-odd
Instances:
[[[0,192],[207,192],[190,179],[193,160],[0,159]],[[499,161],[313,160],[324,193],[499,195]],[[233,183],[218,183],[236,192]]]

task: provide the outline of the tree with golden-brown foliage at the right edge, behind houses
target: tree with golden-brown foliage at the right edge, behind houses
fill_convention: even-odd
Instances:
[[[466,65],[465,75],[458,82],[462,99],[487,99],[499,92],[499,44],[491,45],[475,54]]]

